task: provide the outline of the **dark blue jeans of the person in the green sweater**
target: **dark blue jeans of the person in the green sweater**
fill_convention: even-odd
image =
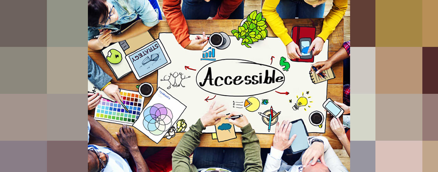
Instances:
[[[193,165],[196,168],[225,168],[232,172],[244,171],[243,148],[197,147],[193,151]]]

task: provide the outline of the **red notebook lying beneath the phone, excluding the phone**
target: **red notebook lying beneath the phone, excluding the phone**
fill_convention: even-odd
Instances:
[[[315,39],[315,33],[316,33],[315,27],[294,26],[292,28],[292,33],[291,33],[290,37],[292,38],[293,42],[295,42],[298,45],[298,47],[301,47],[300,39],[301,38],[310,38],[312,40],[311,42],[313,42],[313,40]],[[313,60],[314,60],[314,56],[312,54],[311,59],[294,59],[292,61],[313,62]]]

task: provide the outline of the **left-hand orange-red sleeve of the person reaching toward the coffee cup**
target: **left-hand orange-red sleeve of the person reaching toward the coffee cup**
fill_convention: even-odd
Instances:
[[[177,42],[184,48],[190,44],[189,28],[181,11],[181,0],[163,0],[163,12]]]

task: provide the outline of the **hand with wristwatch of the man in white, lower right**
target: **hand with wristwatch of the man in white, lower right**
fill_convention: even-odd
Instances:
[[[306,168],[311,160],[311,165],[315,165],[318,159],[323,165],[325,165],[324,144],[321,142],[313,142],[313,144],[309,148],[307,148],[307,150],[303,154],[303,157],[301,158],[301,161],[303,162],[303,168]]]

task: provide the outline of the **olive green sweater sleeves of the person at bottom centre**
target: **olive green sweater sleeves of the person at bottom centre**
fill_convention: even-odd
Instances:
[[[184,133],[180,143],[172,154],[172,168],[174,172],[198,172],[198,169],[190,164],[190,154],[198,147],[201,140],[202,130],[205,127],[201,123],[201,119],[190,126],[190,130]],[[248,124],[242,128],[242,145],[245,152],[244,172],[261,172],[261,157],[260,157],[260,143],[258,142],[257,135],[252,129],[251,124]],[[214,155],[212,155],[214,156]]]

